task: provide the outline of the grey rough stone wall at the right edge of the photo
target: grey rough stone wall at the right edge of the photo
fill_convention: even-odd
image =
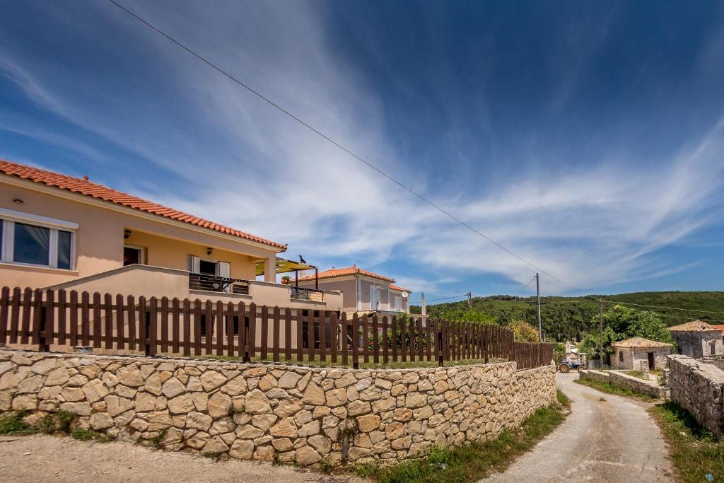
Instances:
[[[669,356],[671,400],[714,434],[724,434],[724,371],[689,356]]]

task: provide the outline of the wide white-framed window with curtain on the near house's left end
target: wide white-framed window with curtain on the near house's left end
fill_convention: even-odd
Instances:
[[[74,269],[77,224],[0,209],[0,261]]]

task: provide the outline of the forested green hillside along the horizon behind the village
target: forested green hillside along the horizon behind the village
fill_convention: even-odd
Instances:
[[[556,340],[581,338],[592,329],[592,319],[598,314],[598,299],[620,303],[639,303],[648,306],[666,306],[694,311],[679,311],[667,308],[635,307],[662,315],[669,326],[682,324],[694,319],[710,321],[712,324],[724,324],[724,292],[638,292],[620,295],[586,295],[584,297],[542,297],[541,319],[543,332]],[[513,297],[511,295],[491,295],[473,298],[473,310],[493,316],[501,325],[522,319],[538,325],[535,297]],[[604,303],[604,311],[613,307],[613,303]],[[439,303],[427,307],[433,317],[443,314],[465,311],[467,301]],[[412,311],[419,313],[420,307],[413,306]],[[700,313],[713,311],[720,314]]]

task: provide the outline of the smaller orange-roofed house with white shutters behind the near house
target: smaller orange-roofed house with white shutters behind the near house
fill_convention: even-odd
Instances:
[[[395,280],[384,275],[370,272],[356,265],[341,269],[329,269],[318,275],[290,280],[290,285],[314,287],[320,290],[342,292],[342,310],[348,314],[376,313],[392,316],[403,312],[410,313],[410,294],[412,290],[395,285]]]

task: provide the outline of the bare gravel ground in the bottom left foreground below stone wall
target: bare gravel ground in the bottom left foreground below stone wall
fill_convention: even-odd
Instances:
[[[219,461],[150,450],[123,442],[81,442],[70,437],[0,437],[0,480],[5,482],[360,482],[308,473],[292,466]]]

